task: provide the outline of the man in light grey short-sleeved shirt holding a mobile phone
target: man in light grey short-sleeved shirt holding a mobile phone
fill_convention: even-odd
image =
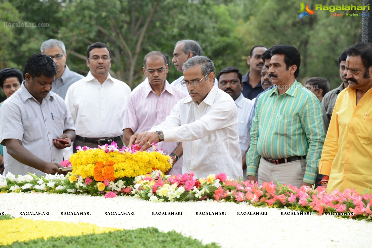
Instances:
[[[64,100],[51,92],[56,74],[52,58],[32,55],[23,69],[21,88],[1,106],[4,175],[62,173],[62,149],[71,146],[75,127]]]

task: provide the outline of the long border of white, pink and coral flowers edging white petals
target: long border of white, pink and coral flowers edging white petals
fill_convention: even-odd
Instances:
[[[75,177],[71,172],[66,176],[47,174],[41,178],[34,174],[15,176],[8,173],[5,177],[0,176],[0,192],[90,193],[104,194],[105,198],[132,195],[144,200],[180,202],[214,199],[372,221],[372,195],[368,193],[360,195],[353,189],[326,193],[322,187],[312,189],[302,186],[298,189],[273,182],[259,186],[250,181],[227,179],[224,173],[195,179],[192,172],[170,176],[154,170],[135,178],[111,182],[107,179],[97,182],[89,177]]]

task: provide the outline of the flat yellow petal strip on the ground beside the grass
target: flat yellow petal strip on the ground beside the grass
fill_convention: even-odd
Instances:
[[[0,230],[0,245],[10,245],[13,242],[23,242],[38,238],[47,239],[59,236],[102,234],[123,229],[103,228],[81,222],[34,221],[32,219],[15,218],[0,221]]]

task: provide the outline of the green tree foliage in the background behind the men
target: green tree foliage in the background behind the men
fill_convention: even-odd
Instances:
[[[5,0],[0,6],[3,22],[49,23],[48,28],[1,27],[7,46],[0,47],[0,68],[22,69],[44,40],[55,38],[66,45],[69,67],[86,75],[86,48],[100,41],[112,50],[112,75],[131,88],[144,79],[146,53],[160,50],[172,58],[181,39],[197,40],[217,72],[237,66],[243,74],[254,45],[293,45],[301,52],[299,81],[323,76],[335,88],[340,83],[338,56],[359,42],[362,32],[360,18],[333,17],[329,11],[299,20],[296,0]],[[315,4],[309,7],[315,9]],[[180,72],[169,68],[168,81],[173,81]]]

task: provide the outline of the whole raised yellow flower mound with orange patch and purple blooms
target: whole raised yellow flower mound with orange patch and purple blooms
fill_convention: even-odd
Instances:
[[[140,147],[137,145],[132,149],[129,147],[118,149],[115,142],[110,146],[105,144],[93,149],[78,146],[78,151],[69,159],[73,168],[72,174],[84,179],[89,177],[100,182],[105,179],[112,182],[119,178],[147,174],[153,168],[166,172],[171,168],[171,157],[157,150],[156,144],[153,146],[154,151],[151,152],[139,152]],[[62,163],[69,164],[66,161]]]

